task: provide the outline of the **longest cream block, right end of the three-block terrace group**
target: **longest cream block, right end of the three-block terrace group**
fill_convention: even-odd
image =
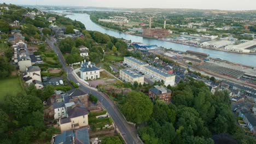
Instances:
[[[143,67],[142,71],[143,73],[152,76],[156,80],[164,81],[165,86],[174,86],[175,84],[175,75],[162,71],[156,67],[153,67],[152,65]]]

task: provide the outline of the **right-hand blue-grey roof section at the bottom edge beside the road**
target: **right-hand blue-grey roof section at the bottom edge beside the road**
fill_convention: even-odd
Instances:
[[[75,130],[75,144],[90,144],[88,128]]]

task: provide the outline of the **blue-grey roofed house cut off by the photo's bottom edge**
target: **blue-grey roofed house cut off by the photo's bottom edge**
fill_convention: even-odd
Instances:
[[[90,144],[88,128],[65,130],[53,137],[53,144]]]

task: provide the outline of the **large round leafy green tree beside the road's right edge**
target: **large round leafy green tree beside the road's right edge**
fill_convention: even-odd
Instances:
[[[149,119],[153,111],[153,104],[145,94],[131,91],[127,94],[122,110],[127,121],[142,123]]]

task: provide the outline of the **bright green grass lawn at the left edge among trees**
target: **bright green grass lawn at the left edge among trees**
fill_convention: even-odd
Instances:
[[[0,80],[0,103],[6,94],[17,94],[22,91],[19,77]]]

